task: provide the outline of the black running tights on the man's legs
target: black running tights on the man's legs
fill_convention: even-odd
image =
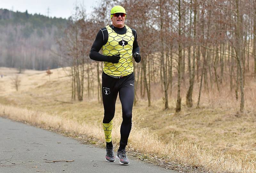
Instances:
[[[123,122],[121,124],[120,146],[126,146],[132,128],[132,106],[134,100],[134,74],[113,78],[102,73],[102,100],[104,106],[103,123],[109,123],[115,115],[116,98],[119,98],[122,105]]]

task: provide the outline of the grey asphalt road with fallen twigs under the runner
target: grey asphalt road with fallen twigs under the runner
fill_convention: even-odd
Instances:
[[[103,133],[103,132],[102,132]],[[115,152],[116,154],[116,152]],[[128,152],[129,157],[129,152]],[[74,160],[74,162],[54,162]],[[178,173],[130,159],[106,162],[105,150],[20,122],[0,118],[0,173]]]

